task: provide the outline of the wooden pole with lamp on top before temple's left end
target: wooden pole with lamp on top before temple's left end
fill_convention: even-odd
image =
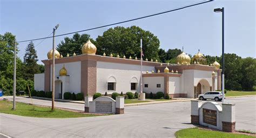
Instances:
[[[59,24],[57,24],[54,28],[53,28],[53,39],[52,39],[52,86],[51,86],[51,91],[52,91],[52,95],[51,95],[51,110],[54,110],[54,94],[55,94],[55,45],[54,45],[54,38],[55,38],[55,30],[57,30],[59,27]]]

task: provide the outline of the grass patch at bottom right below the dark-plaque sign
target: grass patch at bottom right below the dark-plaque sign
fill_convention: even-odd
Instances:
[[[195,138],[225,138],[225,137],[232,137],[232,138],[247,138],[247,137],[253,137],[248,135],[241,135],[241,134],[232,134],[232,133],[225,133],[225,132],[219,132],[219,131],[212,131],[212,130],[202,130],[198,128],[187,128],[187,129],[181,129],[178,132],[175,133],[175,136],[177,138],[184,138],[184,137],[195,137]]]

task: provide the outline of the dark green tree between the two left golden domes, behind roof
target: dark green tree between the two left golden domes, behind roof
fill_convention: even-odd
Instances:
[[[72,38],[65,37],[64,41],[62,40],[57,45],[57,51],[59,51],[60,54],[62,54],[63,57],[66,57],[66,55],[69,53],[70,56],[73,55],[75,52],[77,55],[82,54],[82,46],[89,40],[90,35],[89,34],[82,34],[75,33]],[[96,45],[95,40],[91,39],[91,43]]]

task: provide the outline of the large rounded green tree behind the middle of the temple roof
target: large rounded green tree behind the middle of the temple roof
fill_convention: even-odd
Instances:
[[[150,31],[145,31],[138,26],[110,28],[98,36],[96,54],[106,55],[112,53],[114,56],[118,53],[120,57],[125,56],[132,58],[140,57],[140,39],[142,38],[144,59],[151,58],[159,60],[159,39]]]

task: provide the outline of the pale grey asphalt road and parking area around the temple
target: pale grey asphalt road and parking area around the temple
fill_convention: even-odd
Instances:
[[[226,102],[236,104],[236,129],[255,132],[256,96]],[[56,107],[61,106],[83,109],[79,103],[56,102]],[[44,119],[0,113],[0,133],[11,137],[174,137],[177,130],[190,127],[194,126],[190,124],[189,101],[129,106],[125,114],[89,118]]]

